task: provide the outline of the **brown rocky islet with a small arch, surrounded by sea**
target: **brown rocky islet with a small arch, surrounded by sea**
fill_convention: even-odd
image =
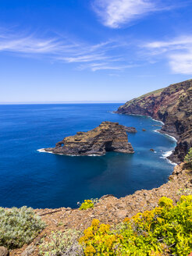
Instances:
[[[44,150],[62,155],[105,155],[107,151],[134,153],[125,126],[112,122],[102,122],[93,130],[65,137],[55,148]]]

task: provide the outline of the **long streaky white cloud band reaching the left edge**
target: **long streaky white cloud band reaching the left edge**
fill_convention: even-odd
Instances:
[[[124,46],[124,45],[123,45]],[[36,35],[0,34],[0,52],[49,58],[54,61],[76,63],[78,69],[125,69],[131,66],[122,55],[116,54],[116,48],[122,45],[118,41],[105,41],[98,44],[88,44],[69,37],[41,38]],[[118,63],[119,62],[119,63]],[[84,65],[83,65],[84,63]],[[87,64],[86,64],[87,63]],[[118,63],[118,64],[117,64]]]

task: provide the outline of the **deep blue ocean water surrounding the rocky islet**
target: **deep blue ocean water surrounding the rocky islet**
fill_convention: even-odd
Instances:
[[[119,105],[0,105],[0,206],[76,208],[77,201],[91,197],[123,197],[165,183],[173,165],[162,155],[176,142],[156,133],[161,123],[153,119],[112,114]],[[37,151],[102,121],[136,127],[138,132],[128,135],[135,154],[65,156]]]

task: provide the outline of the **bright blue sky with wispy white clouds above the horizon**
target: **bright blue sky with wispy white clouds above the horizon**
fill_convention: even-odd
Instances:
[[[0,102],[125,102],[192,78],[192,1],[0,0]]]

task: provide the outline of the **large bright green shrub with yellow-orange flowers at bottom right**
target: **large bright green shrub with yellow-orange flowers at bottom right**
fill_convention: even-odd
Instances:
[[[94,219],[79,242],[86,256],[187,256],[192,251],[192,196],[180,197],[176,206],[162,197],[157,208],[113,229]]]

